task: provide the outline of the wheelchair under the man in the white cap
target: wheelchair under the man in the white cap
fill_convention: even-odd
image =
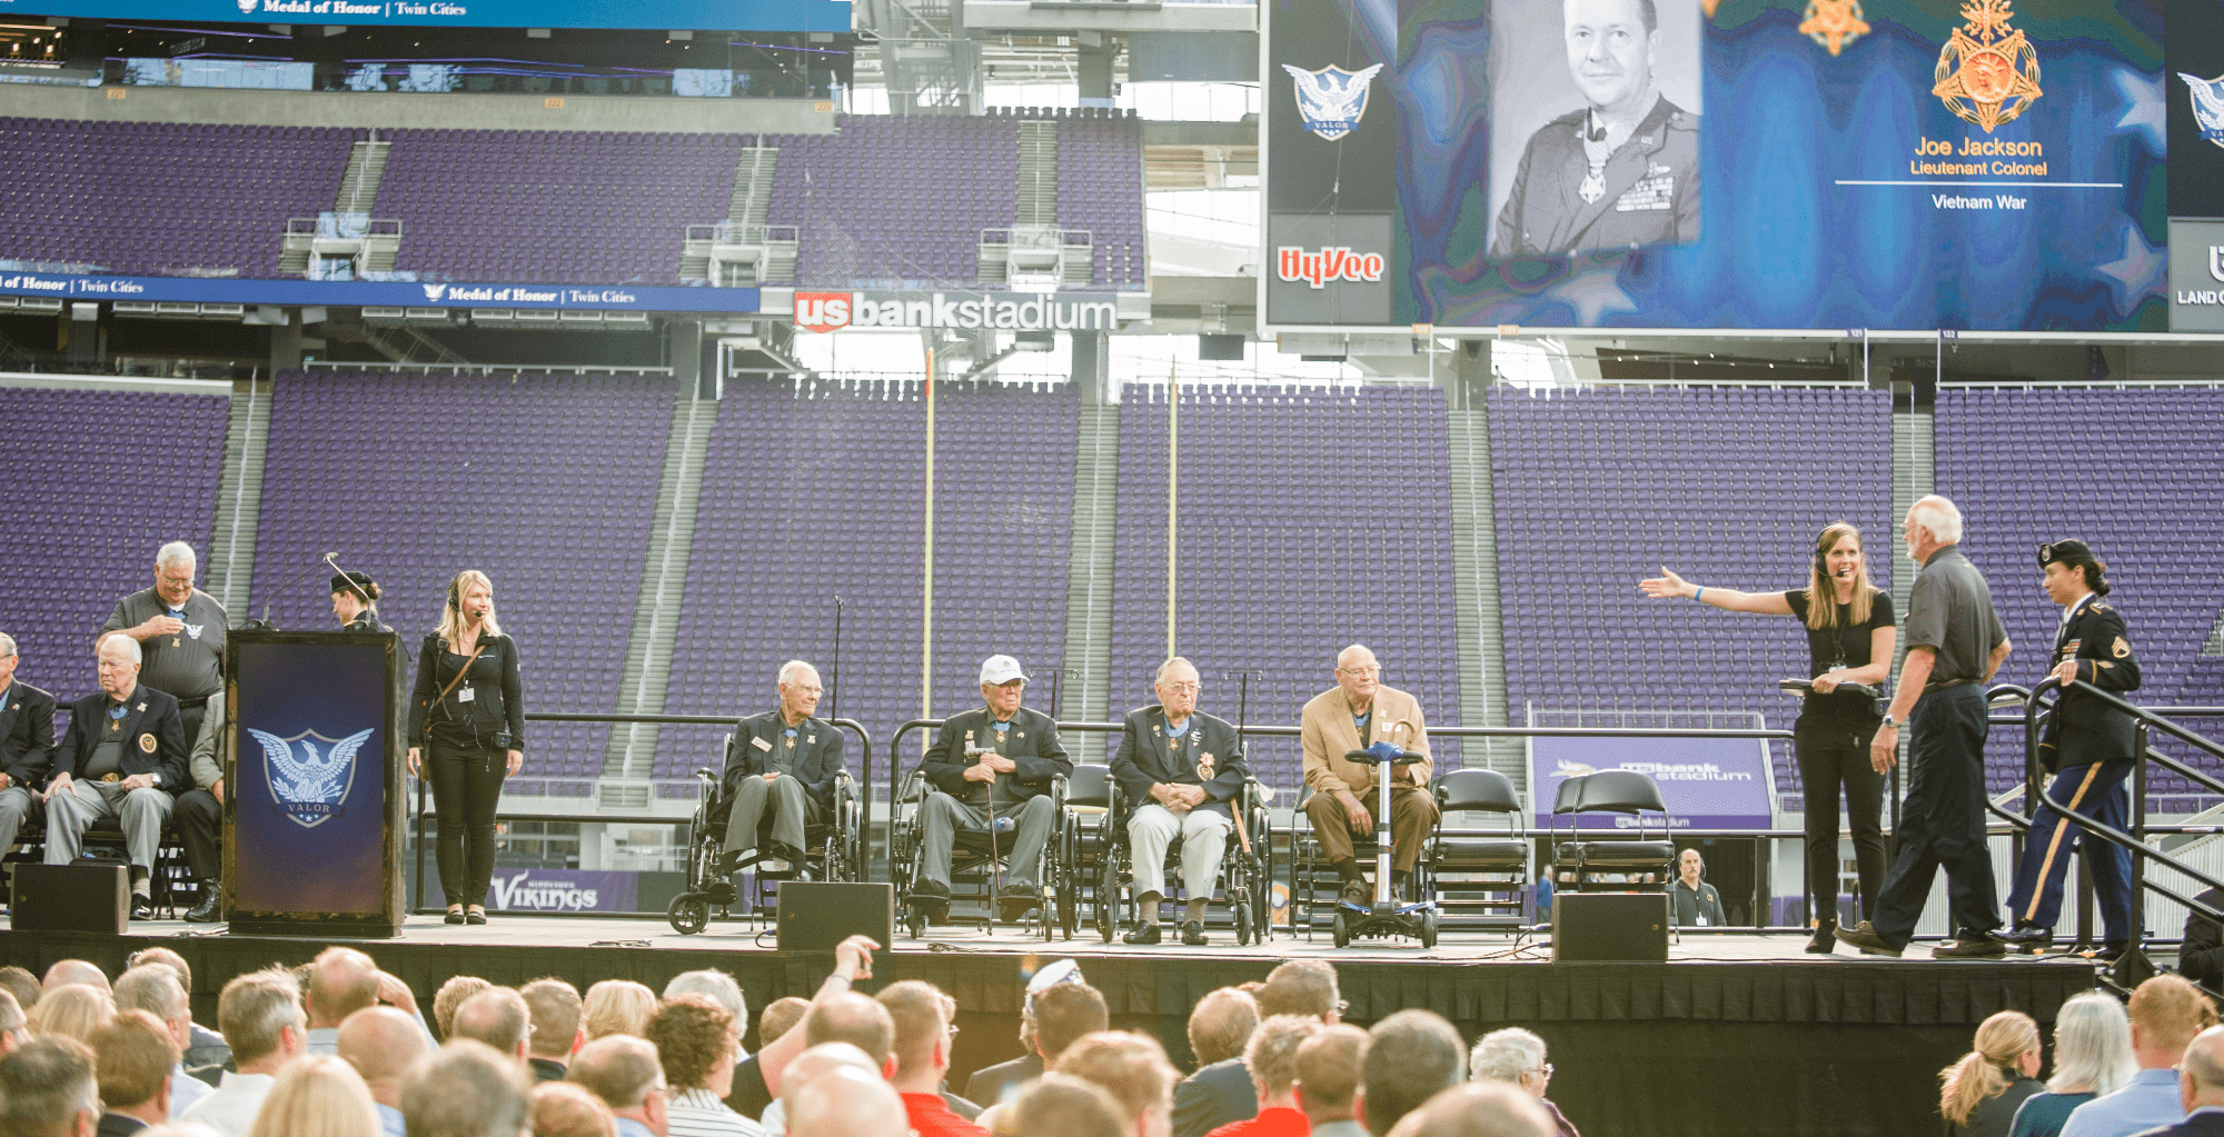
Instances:
[[[1074,904],[1072,884],[1068,882],[1068,864],[1061,857],[1065,846],[1065,828],[1072,826],[1072,811],[1065,808],[1068,777],[1059,775],[1050,779],[1050,837],[1043,842],[1043,864],[1036,873],[1036,888],[1041,891],[1041,902],[1016,915],[1012,922],[1021,926],[1034,926],[1048,942],[1063,924],[1068,926],[1068,937],[1072,937],[1072,915],[1063,908]],[[896,799],[887,819],[887,877],[896,886],[896,904],[903,908],[898,915],[912,939],[925,937],[930,924],[941,924],[950,919],[950,904],[941,897],[914,897],[912,891],[925,879],[925,826],[921,811],[927,804],[927,795],[934,793],[934,784],[927,782],[925,771],[914,768],[903,775],[896,786]],[[950,839],[950,902],[981,902],[990,908],[985,917],[967,917],[983,926],[983,930],[994,930],[996,926],[996,897],[994,886],[1001,875],[1001,859],[1012,853],[1014,831],[999,828],[990,831],[985,826],[959,826]],[[965,893],[961,888],[974,886],[976,891]]]

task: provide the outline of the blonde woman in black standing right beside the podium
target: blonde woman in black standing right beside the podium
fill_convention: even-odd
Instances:
[[[525,766],[518,644],[494,617],[494,582],[465,568],[447,586],[440,626],[418,648],[409,700],[409,773],[431,779],[440,891],[449,924],[487,922],[494,806]]]

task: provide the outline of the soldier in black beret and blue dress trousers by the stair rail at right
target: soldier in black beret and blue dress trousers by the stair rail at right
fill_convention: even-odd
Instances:
[[[2048,600],[2062,604],[2053,677],[2064,684],[2082,680],[2111,693],[2137,691],[2139,660],[2124,633],[2124,613],[2102,602],[2108,595],[2108,566],[2084,542],[2062,540],[2039,546],[2039,568],[2046,573],[2042,586]],[[2064,686],[2039,737],[2039,762],[2053,782],[2046,786],[2046,802],[2033,813],[2024,862],[2015,871],[2015,891],[2008,895],[2013,926],[1993,935],[2015,948],[2044,950],[2062,913],[2071,851],[2084,848],[2093,899],[2102,910],[2104,955],[2113,959],[2124,953],[2131,944],[2131,853],[2064,824],[2048,802],[2128,831],[2124,775],[2131,773],[2133,757],[2131,715]]]

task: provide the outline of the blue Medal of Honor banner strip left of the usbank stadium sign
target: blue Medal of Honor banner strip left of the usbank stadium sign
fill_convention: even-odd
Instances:
[[[29,271],[0,271],[0,295],[42,295],[51,300],[142,300],[171,304],[311,304],[336,309],[387,306],[754,313],[758,304],[756,289],[681,289],[672,284],[420,284],[394,280],[238,280]]]

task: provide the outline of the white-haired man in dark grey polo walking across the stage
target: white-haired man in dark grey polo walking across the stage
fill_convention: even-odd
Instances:
[[[1899,686],[1868,746],[1877,773],[1888,771],[1899,759],[1899,724],[1908,724],[1899,855],[1884,875],[1875,919],[1850,933],[1839,928],[1837,937],[1868,955],[1899,955],[1944,866],[1955,939],[1930,955],[2002,955],[2006,948],[1986,935],[1999,926],[1999,902],[1984,842],[1984,684],[2008,657],[2008,628],[1993,611],[1984,573],[1962,555],[1962,511],[1953,502],[1939,495],[1915,502],[1902,535],[1924,568],[1908,593]]]

